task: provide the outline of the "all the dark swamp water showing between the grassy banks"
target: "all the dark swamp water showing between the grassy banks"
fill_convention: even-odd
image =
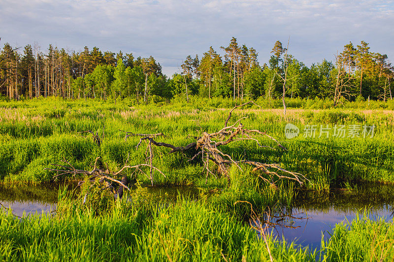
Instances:
[[[68,190],[76,184],[68,184]],[[2,185],[0,184],[0,203],[21,216],[35,212],[50,212],[56,209],[60,184]],[[149,193],[176,200],[179,194],[198,198],[194,187],[149,187]],[[0,207],[2,208],[2,207]],[[329,193],[300,190],[291,208],[270,217],[269,232],[274,236],[297,245],[320,248],[322,234],[329,238],[335,224],[350,223],[357,214],[364,211],[369,218],[384,217],[386,221],[394,215],[394,186],[378,183],[356,184],[348,189],[334,189]]]

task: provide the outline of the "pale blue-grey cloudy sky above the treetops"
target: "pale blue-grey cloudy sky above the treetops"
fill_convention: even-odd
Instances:
[[[0,48],[37,43],[153,56],[171,76],[183,60],[231,37],[267,63],[274,43],[306,65],[334,60],[349,41],[394,63],[393,0],[0,0]]]

